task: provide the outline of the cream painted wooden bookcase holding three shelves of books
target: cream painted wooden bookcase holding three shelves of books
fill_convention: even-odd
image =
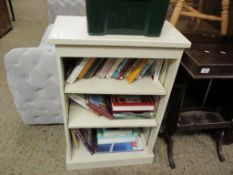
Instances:
[[[67,169],[114,167],[152,163],[153,148],[166,110],[170,92],[185,48],[191,43],[170,23],[164,23],[160,37],[105,35],[89,36],[86,17],[59,16],[49,36],[55,44],[64,128],[67,144]],[[72,85],[65,83],[64,62],[69,58],[153,58],[164,59],[158,80],[143,78],[132,84],[126,80],[82,79]],[[160,96],[157,112],[152,119],[109,120],[75,105],[69,104],[67,94],[125,94]],[[90,155],[82,144],[75,148],[71,142],[72,128],[143,128],[145,149],[136,152]]]

